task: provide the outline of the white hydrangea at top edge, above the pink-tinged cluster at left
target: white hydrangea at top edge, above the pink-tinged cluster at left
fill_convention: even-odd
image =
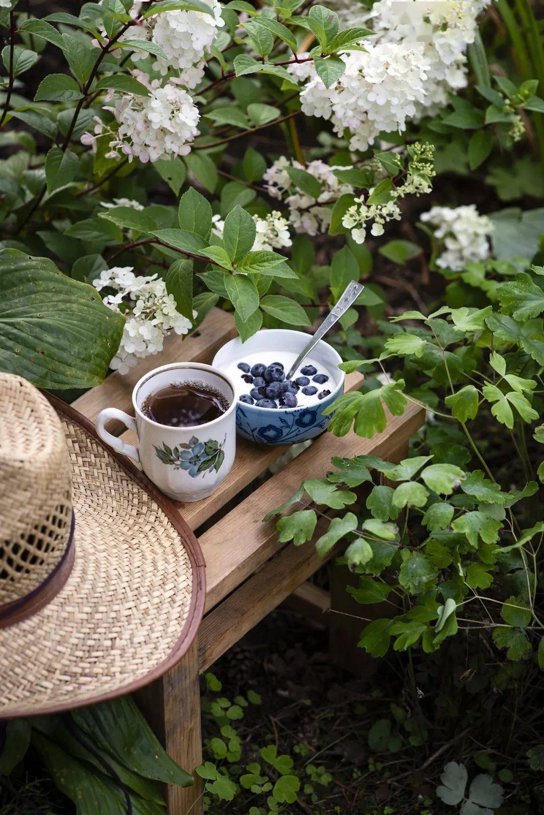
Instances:
[[[165,51],[166,59],[157,57],[155,67],[165,75],[171,68],[180,71],[180,80],[189,88],[204,76],[204,55],[225,25],[218,0],[204,0],[212,14],[202,11],[165,11],[152,20],[151,40]]]

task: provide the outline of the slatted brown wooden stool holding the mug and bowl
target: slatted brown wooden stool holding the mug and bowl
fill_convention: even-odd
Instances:
[[[140,360],[125,376],[113,373],[103,385],[77,399],[74,407],[92,421],[103,407],[119,407],[131,414],[132,390],[144,373],[178,361],[210,363],[216,351],[235,335],[232,316],[214,308],[191,337],[183,341],[182,337],[168,337],[160,355]],[[358,372],[349,374],[346,392],[358,390],[363,380]],[[232,509],[222,512],[227,502],[233,502],[244,487],[248,487],[288,449],[257,445],[238,438],[235,464],[213,496],[196,503],[176,504],[186,523],[197,532],[204,522],[209,522],[217,514],[213,525],[207,526],[199,535],[206,562],[204,619],[186,656],[160,680],[139,691],[137,701],[170,756],[188,772],[194,772],[202,762],[200,673],[207,671],[216,659],[292,593],[295,593],[297,606],[309,615],[313,610],[322,615],[322,610],[329,606],[333,610],[344,610],[344,601],[349,600],[341,580],[340,584],[335,581],[331,598],[322,590],[305,585],[327,558],[318,557],[313,541],[302,546],[280,544],[275,520],[263,523],[263,515],[283,504],[305,478],[322,478],[331,469],[331,456],[371,454],[393,462],[401,460],[406,456],[408,439],[423,420],[423,408],[409,403],[404,415],[389,416],[384,432],[374,438],[360,438],[353,432],[344,438],[324,433],[278,474],[257,486]],[[113,425],[112,422],[110,430],[113,434],[125,431],[122,438],[134,443],[131,431],[125,430],[123,425]],[[326,524],[324,519],[318,522],[316,538]],[[327,557],[336,554],[334,550]],[[332,625],[337,629],[342,625],[342,616],[331,616],[336,618]],[[343,641],[351,637],[354,646],[353,637],[357,632],[353,630],[353,620],[351,623],[351,635],[349,624],[345,623]],[[340,660],[340,654],[337,657]],[[186,815],[189,809],[191,815],[203,812],[202,783],[198,776],[195,776],[195,784],[186,789],[169,787],[169,815]]]

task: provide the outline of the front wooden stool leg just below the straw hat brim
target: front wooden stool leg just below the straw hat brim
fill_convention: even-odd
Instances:
[[[135,694],[136,702],[169,756],[193,773],[192,786],[168,787],[168,815],[202,815],[203,783],[195,774],[202,764],[198,637],[165,676]]]

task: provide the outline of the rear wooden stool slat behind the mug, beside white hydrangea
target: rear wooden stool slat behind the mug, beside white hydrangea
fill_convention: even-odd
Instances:
[[[76,399],[72,406],[91,421],[96,421],[96,417],[104,407],[118,407],[132,416],[132,390],[138,379],[145,373],[172,362],[210,363],[216,351],[236,334],[233,316],[226,311],[213,308],[198,331],[191,336],[186,339],[178,334],[166,337],[165,347],[160,355],[139,359],[128,373],[110,374],[102,385],[88,390],[86,394]],[[108,427],[110,433],[114,435],[121,434],[125,430],[125,425],[122,425],[121,422],[112,422]]]

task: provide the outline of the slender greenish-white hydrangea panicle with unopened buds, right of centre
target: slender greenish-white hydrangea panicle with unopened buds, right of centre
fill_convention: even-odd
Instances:
[[[397,204],[399,198],[407,195],[420,196],[432,190],[431,178],[436,175],[432,156],[432,144],[415,142],[410,145],[410,164],[404,182],[399,187],[393,187],[390,199],[384,204],[367,204],[365,197],[356,198],[353,205],[346,210],[342,218],[342,226],[351,230],[351,236],[357,244],[363,244],[366,239],[366,227],[372,223],[371,235],[378,237],[384,234],[384,224],[388,221],[400,221],[401,209]],[[372,193],[369,190],[369,196]]]

